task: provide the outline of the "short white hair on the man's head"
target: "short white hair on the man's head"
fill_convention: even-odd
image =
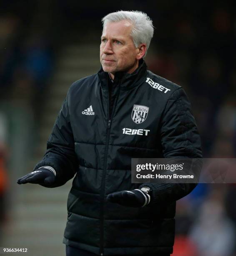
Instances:
[[[141,11],[117,11],[115,13],[109,13],[102,18],[103,29],[108,22],[118,22],[121,20],[128,20],[133,28],[131,30],[131,37],[133,43],[137,48],[140,44],[146,44],[147,50],[153,37],[153,22],[146,13]],[[143,57],[146,56],[146,53]]]

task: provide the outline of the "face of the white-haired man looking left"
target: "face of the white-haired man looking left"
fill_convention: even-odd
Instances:
[[[111,74],[118,71],[132,73],[138,67],[139,49],[130,36],[131,23],[127,20],[107,23],[100,44],[100,62],[103,70]]]

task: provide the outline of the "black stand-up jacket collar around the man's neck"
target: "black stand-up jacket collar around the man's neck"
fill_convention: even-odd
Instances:
[[[147,72],[147,65],[143,59],[139,60],[138,68],[131,74],[126,72],[116,72],[114,83],[121,85],[121,90],[131,90],[143,82]],[[104,90],[108,90],[108,79],[110,79],[108,72],[103,71],[103,67],[98,72],[101,86]]]

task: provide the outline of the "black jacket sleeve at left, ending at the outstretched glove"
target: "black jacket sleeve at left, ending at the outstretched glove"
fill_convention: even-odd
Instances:
[[[55,169],[55,183],[50,187],[62,186],[69,179],[73,178],[78,165],[74,151],[74,138],[70,125],[68,102],[69,92],[48,139],[45,155],[42,161],[36,164],[34,168],[36,170],[41,166],[51,166]]]

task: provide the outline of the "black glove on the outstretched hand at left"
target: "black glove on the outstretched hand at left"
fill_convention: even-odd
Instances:
[[[49,169],[40,168],[18,179],[18,184],[33,183],[40,185],[52,185],[55,182],[55,174]]]

